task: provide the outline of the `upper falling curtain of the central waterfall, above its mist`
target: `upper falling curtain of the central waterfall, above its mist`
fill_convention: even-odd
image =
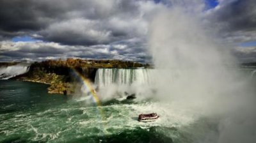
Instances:
[[[95,84],[100,87],[116,84],[118,86],[131,86],[131,84],[153,84],[152,70],[99,68],[95,76]]]

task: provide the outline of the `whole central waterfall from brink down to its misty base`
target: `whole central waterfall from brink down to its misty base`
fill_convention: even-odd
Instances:
[[[137,97],[145,94],[152,96],[155,81],[154,70],[146,68],[99,68],[95,76],[101,100],[111,100],[127,94],[136,94]]]

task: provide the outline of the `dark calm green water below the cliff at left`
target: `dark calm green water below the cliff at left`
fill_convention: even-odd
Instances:
[[[0,80],[0,114],[29,109],[49,109],[66,103],[60,94],[48,94],[49,85],[15,80]]]

